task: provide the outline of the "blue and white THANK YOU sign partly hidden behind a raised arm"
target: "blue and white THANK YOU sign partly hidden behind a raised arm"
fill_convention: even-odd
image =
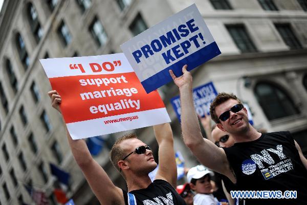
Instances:
[[[200,87],[193,89],[193,102],[196,113],[204,117],[205,113],[209,115],[210,104],[213,99],[216,97],[217,92],[213,86],[213,83],[207,83]],[[179,121],[181,121],[181,105],[180,105],[180,96],[176,96],[170,99],[171,105],[175,110]]]

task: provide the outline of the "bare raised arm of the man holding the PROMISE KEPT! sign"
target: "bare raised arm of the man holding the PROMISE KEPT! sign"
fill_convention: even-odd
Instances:
[[[187,65],[182,68],[183,75],[180,77],[176,77],[171,70],[169,71],[180,91],[181,128],[184,143],[203,165],[226,175],[235,182],[235,176],[229,167],[225,151],[202,136],[192,98],[192,75],[186,69]]]

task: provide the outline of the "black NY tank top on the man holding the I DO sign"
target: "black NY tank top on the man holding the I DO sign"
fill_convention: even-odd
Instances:
[[[135,196],[135,200],[131,194]],[[123,195],[126,205],[186,205],[183,198],[170,183],[162,179],[154,180],[146,189],[134,190],[129,193],[123,190]]]

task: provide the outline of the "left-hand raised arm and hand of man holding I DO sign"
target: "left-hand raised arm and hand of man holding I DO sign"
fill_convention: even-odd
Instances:
[[[61,96],[56,91],[48,92],[52,107],[61,113]],[[64,121],[64,119],[63,119]],[[65,125],[73,156],[101,204],[124,204],[122,190],[114,185],[103,168],[93,159],[83,139],[73,140]]]

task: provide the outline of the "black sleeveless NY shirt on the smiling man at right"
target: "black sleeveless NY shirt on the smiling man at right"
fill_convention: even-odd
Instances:
[[[307,170],[290,132],[265,133],[223,149],[237,190],[297,191],[297,199],[246,199],[247,204],[307,204]]]

